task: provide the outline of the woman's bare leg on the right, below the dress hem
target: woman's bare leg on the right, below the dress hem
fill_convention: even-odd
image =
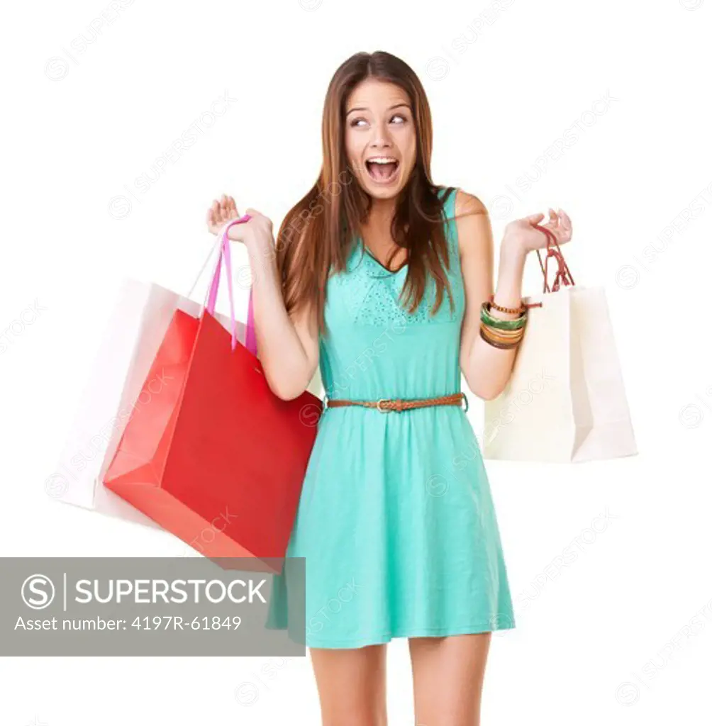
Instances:
[[[487,632],[410,638],[417,726],[480,726],[491,637]]]

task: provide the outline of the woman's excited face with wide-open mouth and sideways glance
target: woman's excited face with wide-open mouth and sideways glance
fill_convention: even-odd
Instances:
[[[416,163],[416,128],[408,94],[366,78],[349,94],[345,142],[356,178],[371,197],[390,199]]]

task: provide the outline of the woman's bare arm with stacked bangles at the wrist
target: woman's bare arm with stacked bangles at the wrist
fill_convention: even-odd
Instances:
[[[460,367],[470,390],[482,399],[496,398],[511,376],[517,348],[490,346],[480,338],[480,307],[493,293],[494,243],[485,205],[458,189],[455,200],[456,224],[465,285],[465,316],[461,332]],[[462,215],[462,216],[461,216]],[[570,219],[549,210],[551,221],[543,225],[554,232],[559,244],[571,238]],[[543,214],[534,214],[507,225],[499,251],[495,303],[517,308],[522,303],[522,277],[527,254],[546,247],[546,236],[532,225]],[[490,311],[493,317],[515,319],[517,314]]]

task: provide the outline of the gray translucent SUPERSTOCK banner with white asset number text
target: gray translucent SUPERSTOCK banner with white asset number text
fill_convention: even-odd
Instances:
[[[270,563],[289,631],[251,558],[0,558],[0,656],[304,656],[304,558]]]

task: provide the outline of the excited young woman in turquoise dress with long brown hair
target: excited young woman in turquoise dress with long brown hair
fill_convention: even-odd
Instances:
[[[269,621],[302,633],[306,621],[325,726],[386,724],[394,637],[409,638],[416,723],[477,725],[490,634],[514,627],[461,376],[482,399],[506,386],[544,215],[507,225],[493,295],[487,210],[432,182],[431,152],[416,74],[358,53],[326,94],[320,176],[276,242],[254,209],[230,229],[251,261],[270,388],[293,399],[319,366],[326,392],[287,552],[306,558],[307,611],[287,607],[304,593],[286,567]],[[223,196],[209,229],[237,216]],[[549,210],[542,226],[570,240],[566,213]]]

